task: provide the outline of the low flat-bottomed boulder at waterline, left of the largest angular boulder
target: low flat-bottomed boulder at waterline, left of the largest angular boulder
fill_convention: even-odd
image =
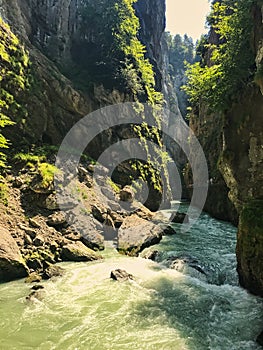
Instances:
[[[101,259],[101,256],[87,248],[83,243],[75,242],[62,248],[61,258],[64,261],[93,261]]]

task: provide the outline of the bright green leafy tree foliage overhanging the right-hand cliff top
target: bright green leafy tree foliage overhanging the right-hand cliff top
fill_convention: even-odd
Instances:
[[[208,16],[217,42],[203,40],[200,62],[187,66],[184,90],[193,106],[202,101],[211,110],[225,110],[253,76],[251,8],[255,0],[214,1]]]

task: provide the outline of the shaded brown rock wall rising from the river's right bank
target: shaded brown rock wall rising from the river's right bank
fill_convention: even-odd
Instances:
[[[255,66],[262,67],[262,8],[253,8]],[[210,41],[217,40],[211,33]],[[192,115],[191,126],[203,145],[210,171],[205,209],[235,222],[239,217],[237,260],[240,283],[263,296],[263,96],[262,76],[245,86],[224,113],[208,113],[207,106]],[[234,207],[234,209],[233,209]]]

